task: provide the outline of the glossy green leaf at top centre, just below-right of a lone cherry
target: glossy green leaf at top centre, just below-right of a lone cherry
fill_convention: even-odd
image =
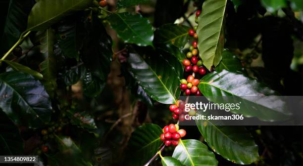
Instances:
[[[139,46],[152,45],[152,25],[142,15],[132,15],[128,12],[114,13],[108,17],[108,21],[124,42]]]

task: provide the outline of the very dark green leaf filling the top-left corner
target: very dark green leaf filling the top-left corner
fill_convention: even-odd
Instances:
[[[7,3],[3,4],[5,2]],[[21,33],[26,29],[32,0],[1,0],[0,3],[1,10],[7,10],[6,15],[0,16],[0,54],[2,54],[19,40]]]

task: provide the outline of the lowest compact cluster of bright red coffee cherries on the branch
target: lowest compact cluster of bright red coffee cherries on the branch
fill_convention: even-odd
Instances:
[[[165,146],[170,146],[171,144],[177,146],[179,144],[179,139],[186,135],[186,131],[184,129],[179,129],[178,124],[166,125],[163,127],[162,131],[163,133],[160,138]]]

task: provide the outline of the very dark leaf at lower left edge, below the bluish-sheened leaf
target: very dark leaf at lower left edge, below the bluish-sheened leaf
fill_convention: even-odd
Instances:
[[[23,154],[20,131],[0,109],[0,155]]]

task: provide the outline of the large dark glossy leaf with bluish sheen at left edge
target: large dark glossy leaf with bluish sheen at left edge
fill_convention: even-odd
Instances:
[[[50,122],[50,96],[31,75],[20,72],[0,74],[0,108],[16,124],[42,127]]]

